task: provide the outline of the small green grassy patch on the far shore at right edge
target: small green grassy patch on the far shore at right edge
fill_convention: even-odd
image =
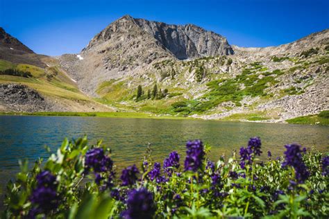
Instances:
[[[307,125],[329,125],[329,110],[324,110],[317,115],[300,116],[288,119],[288,123]]]

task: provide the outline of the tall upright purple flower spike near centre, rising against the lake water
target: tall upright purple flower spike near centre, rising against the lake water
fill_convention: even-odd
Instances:
[[[192,170],[196,172],[201,167],[203,156],[205,155],[203,143],[200,140],[187,141],[186,148],[185,171]]]

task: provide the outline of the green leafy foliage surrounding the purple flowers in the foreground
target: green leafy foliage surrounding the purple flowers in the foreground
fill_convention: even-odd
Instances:
[[[329,213],[329,181],[328,175],[323,175],[323,157],[328,155],[320,152],[302,155],[310,172],[303,184],[292,184],[294,168],[282,168],[282,159],[262,163],[253,154],[252,164],[246,164],[244,169],[235,155],[228,160],[221,157],[212,165],[205,155],[195,172],[176,166],[171,177],[167,172],[161,173],[167,179],[158,181],[150,177],[154,175],[155,163],[147,152],[138,180],[122,186],[118,179],[111,178],[115,173],[112,163],[108,162],[111,171],[100,173],[99,182],[92,171],[85,171],[85,155],[90,148],[94,151],[101,148],[96,150],[110,157],[109,148],[101,146],[101,142],[90,147],[84,137],[74,142],[65,139],[56,154],[44,165],[41,159],[36,161],[32,170],[28,170],[26,162],[21,162],[22,170],[16,181],[7,186],[3,218],[25,218],[35,213],[38,206],[31,202],[31,193],[35,194],[35,188],[40,186],[36,178],[42,170],[56,176],[57,196],[53,202],[56,207],[45,205],[49,210],[38,211],[39,218],[119,218],[127,209],[125,200],[130,191],[140,188],[151,193],[153,218],[326,218]],[[210,152],[208,146],[205,152]],[[214,175],[219,178],[214,180]],[[49,185],[51,178],[42,181],[46,186],[53,186]],[[138,198],[142,203],[146,199]],[[49,197],[42,204],[47,202]]]

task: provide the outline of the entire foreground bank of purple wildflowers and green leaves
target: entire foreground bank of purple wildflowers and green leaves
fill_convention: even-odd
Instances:
[[[65,142],[43,171],[39,162],[8,184],[4,218],[326,218],[328,155],[292,144],[263,162],[261,145],[251,138],[239,159],[214,163],[200,140],[187,141],[183,166],[173,151],[115,178],[109,150]]]

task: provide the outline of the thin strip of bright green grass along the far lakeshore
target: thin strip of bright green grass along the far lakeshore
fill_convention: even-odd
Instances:
[[[183,116],[167,116],[147,114],[144,112],[0,112],[1,115],[21,116],[83,116],[109,118],[141,118],[141,119],[194,119]]]

